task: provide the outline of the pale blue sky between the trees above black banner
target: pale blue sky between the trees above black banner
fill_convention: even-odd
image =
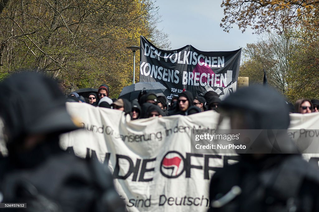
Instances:
[[[155,2],[155,0],[153,0]],[[258,40],[252,30],[241,33],[237,25],[229,33],[219,26],[224,17],[222,0],[157,0],[162,22],[158,29],[168,34],[171,48],[192,45],[201,51],[232,51]]]

